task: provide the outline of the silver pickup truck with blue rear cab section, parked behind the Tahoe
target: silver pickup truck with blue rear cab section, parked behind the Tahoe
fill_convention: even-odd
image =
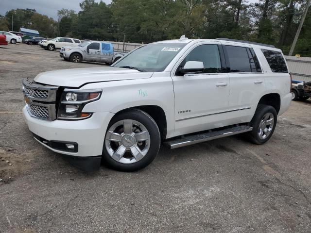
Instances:
[[[118,61],[125,53],[113,50],[113,44],[105,41],[88,40],[78,46],[62,47],[59,51],[60,57],[70,62],[104,62],[112,64]]]

